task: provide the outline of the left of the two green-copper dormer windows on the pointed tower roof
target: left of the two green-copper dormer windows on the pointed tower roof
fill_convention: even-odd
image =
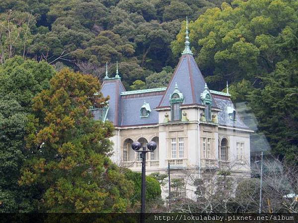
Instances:
[[[178,85],[176,83],[175,90],[170,97],[171,120],[172,121],[180,121],[181,120],[180,105],[183,103],[183,101],[184,101],[183,94],[178,90]]]

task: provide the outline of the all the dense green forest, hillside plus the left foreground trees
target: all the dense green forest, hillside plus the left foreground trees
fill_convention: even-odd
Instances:
[[[294,160],[297,0],[1,0],[4,211],[125,212],[135,202],[132,181],[108,158],[112,126],[94,122],[85,112],[90,103],[107,100],[93,97],[106,62],[113,75],[119,61],[127,90],[166,86],[184,48],[186,16],[191,50],[208,86],[225,91],[228,81],[232,100],[245,102],[256,117],[256,134],[266,136],[274,155]],[[62,85],[68,91],[61,91]],[[70,99],[74,95],[76,102]],[[68,128],[73,135],[66,134]],[[48,150],[37,156],[41,142],[48,142]],[[57,162],[55,156],[66,159]],[[76,163],[84,165],[76,168]],[[86,171],[90,165],[94,175]],[[77,183],[70,183],[74,178]],[[69,197],[63,196],[66,190]],[[154,198],[158,193],[154,188]],[[74,197],[76,203],[70,201]]]

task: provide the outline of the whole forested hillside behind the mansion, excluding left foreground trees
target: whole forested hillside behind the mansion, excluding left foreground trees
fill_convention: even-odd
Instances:
[[[101,79],[119,71],[127,90],[163,87],[183,50],[209,87],[230,85],[277,154],[297,152],[298,1],[2,0],[0,62],[20,55]]]

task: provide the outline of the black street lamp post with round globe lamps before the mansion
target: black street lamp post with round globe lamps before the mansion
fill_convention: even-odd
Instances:
[[[138,152],[142,147],[140,142],[133,142],[132,149]],[[142,158],[142,188],[141,188],[141,223],[145,223],[145,194],[146,194],[146,153],[153,152],[156,149],[157,145],[155,142],[151,141],[147,143],[147,148],[143,147],[141,151]]]

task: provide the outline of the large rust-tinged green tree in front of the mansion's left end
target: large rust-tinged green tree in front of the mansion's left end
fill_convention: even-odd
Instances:
[[[20,185],[36,188],[41,212],[125,212],[132,184],[112,164],[112,123],[93,119],[107,99],[90,75],[62,70],[34,98]]]

